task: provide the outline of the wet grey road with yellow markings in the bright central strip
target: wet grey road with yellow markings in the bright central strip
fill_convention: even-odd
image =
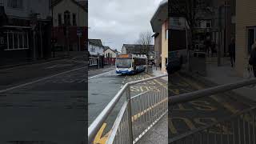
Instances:
[[[126,82],[138,81],[144,78],[150,78],[152,75],[146,74],[145,72],[134,75],[120,75],[115,74],[115,71],[106,72],[106,74],[100,74],[99,76],[89,79],[89,126],[93,122],[94,118],[100,114],[105,106],[110,102],[114,95],[118,93],[118,90]],[[156,80],[152,82],[143,82],[134,86],[130,86],[131,97],[136,94],[141,94],[147,90],[158,89],[158,87],[166,84],[162,80]],[[125,101],[125,95],[119,100],[117,106],[111,112],[109,118],[103,124],[102,129],[98,131],[94,143],[105,143],[111,129],[114,124],[118,112]]]

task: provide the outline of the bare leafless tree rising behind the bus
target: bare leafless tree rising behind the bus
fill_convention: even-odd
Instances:
[[[141,32],[138,37],[138,41],[136,42],[138,45],[141,45],[142,54],[146,54],[146,56],[149,58],[149,52],[150,52],[150,45],[152,42],[150,31]]]

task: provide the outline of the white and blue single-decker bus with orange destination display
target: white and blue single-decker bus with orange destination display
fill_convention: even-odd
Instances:
[[[146,70],[145,54],[119,54],[115,61],[117,74],[137,74]]]

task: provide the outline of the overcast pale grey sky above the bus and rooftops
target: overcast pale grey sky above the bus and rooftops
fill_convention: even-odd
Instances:
[[[89,38],[118,50],[124,43],[134,44],[140,32],[152,32],[150,19],[161,1],[89,0]]]

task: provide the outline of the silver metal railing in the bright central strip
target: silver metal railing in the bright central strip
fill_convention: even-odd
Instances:
[[[112,126],[110,130],[106,143],[132,144],[138,142],[138,139],[142,138],[142,136],[167,113],[168,90],[166,83],[166,85],[155,87],[154,89],[147,90],[146,92],[131,98],[130,86],[142,82],[153,81],[166,76],[168,75],[165,74],[158,77],[126,83],[88,128],[88,143],[94,141],[103,122],[106,122],[106,118],[110,116],[114,106],[116,106],[118,102],[120,102],[120,98],[124,96],[126,97],[126,100],[123,102],[122,108],[115,119],[114,126]]]

